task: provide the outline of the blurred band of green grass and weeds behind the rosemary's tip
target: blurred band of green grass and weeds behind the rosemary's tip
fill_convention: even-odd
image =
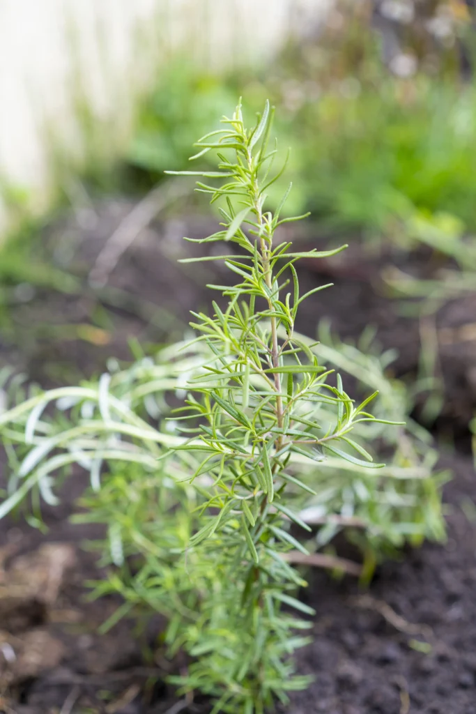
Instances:
[[[454,217],[450,232],[476,231],[474,81],[462,82],[454,66],[394,76],[375,33],[361,29],[357,44],[352,25],[337,47],[290,46],[258,76],[175,64],[144,104],[126,159],[158,181],[168,167],[186,167],[193,137],[239,94],[248,111],[269,96],[280,106],[281,145],[293,147],[290,211],[373,236],[434,214]]]

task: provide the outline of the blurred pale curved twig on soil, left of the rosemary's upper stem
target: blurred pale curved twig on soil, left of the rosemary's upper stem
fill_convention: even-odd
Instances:
[[[120,223],[116,231],[108,238],[96,258],[89,273],[89,283],[95,288],[106,285],[108,277],[118,263],[119,258],[131,246],[141,231],[148,226],[163,208],[177,198],[190,193],[190,188],[183,181],[171,180],[153,188]]]

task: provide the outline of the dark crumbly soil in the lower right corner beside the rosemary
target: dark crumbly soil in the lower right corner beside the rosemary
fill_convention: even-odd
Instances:
[[[289,712],[476,712],[476,524],[460,509],[475,496],[475,473],[468,458],[442,461],[455,473],[445,545],[386,563],[365,593],[313,573],[306,596],[317,611],[315,640],[298,666],[315,685],[293,697]]]

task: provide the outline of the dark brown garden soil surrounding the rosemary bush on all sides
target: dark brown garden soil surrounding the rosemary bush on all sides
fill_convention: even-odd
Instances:
[[[130,208],[125,202],[99,206],[89,228],[65,216],[45,232],[46,252],[84,276]],[[143,231],[101,290],[93,291],[83,281],[78,293],[70,295],[12,291],[11,326],[6,336],[0,334],[0,366],[21,368],[44,386],[64,383],[100,372],[108,356],[128,358],[131,336],[146,348],[179,336],[188,310],[206,308],[210,299],[202,286],[211,269],[176,263],[184,251],[190,252],[191,244],[184,246],[181,236],[204,231],[198,218],[193,228],[171,219]],[[312,241],[313,247],[317,244]],[[418,369],[420,324],[398,314],[379,277],[394,258],[365,257],[358,246],[351,251],[346,258],[303,268],[303,292],[329,281],[335,287],[303,303],[298,327],[312,335],[325,316],[341,338],[355,339],[374,324],[382,346],[400,353],[394,373],[411,383]],[[425,254],[405,261],[407,271],[417,275],[431,270]],[[220,278],[226,279],[224,274]],[[310,575],[303,597],[317,612],[315,640],[298,653],[298,668],[313,673],[315,684],[293,695],[283,713],[476,714],[476,523],[467,518],[476,513],[471,507],[476,481],[467,448],[467,423],[476,406],[475,308],[476,296],[452,301],[432,323],[440,336],[437,364],[445,379],[445,406],[435,433],[452,438],[460,448],[442,457],[442,465],[455,473],[445,488],[447,543],[425,544],[405,553],[400,562],[386,563],[367,591],[359,591],[349,578],[338,582],[322,571]],[[187,705],[163,683],[167,671],[179,665],[167,663],[157,645],[160,621],[138,628],[137,622],[122,620],[107,635],[98,634],[119,603],[85,597],[85,582],[97,578],[98,570],[80,543],[97,534],[68,521],[81,488],[81,477],[75,476],[63,505],[46,509],[46,535],[21,521],[0,523],[6,545],[0,551],[6,562],[5,573],[0,573],[0,711],[3,706],[6,713],[16,714],[205,714],[206,704]],[[49,600],[43,594],[41,578],[49,583],[53,577],[50,564],[46,575],[40,569],[36,590],[31,575],[30,590],[23,599],[12,600],[9,588],[19,573],[31,574],[35,563],[43,562],[45,540],[74,545],[58,592]],[[16,560],[22,553],[30,560]],[[8,608],[2,603],[9,603]],[[41,655],[28,660],[22,647]],[[9,662],[11,650],[20,653],[16,665]]]

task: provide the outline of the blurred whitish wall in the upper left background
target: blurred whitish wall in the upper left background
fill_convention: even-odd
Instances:
[[[174,53],[214,68],[262,61],[290,32],[318,24],[331,1],[0,0],[0,231],[9,214],[2,191],[21,189],[41,212],[55,151],[81,159],[84,104],[107,126],[113,151],[128,137],[137,97]]]

